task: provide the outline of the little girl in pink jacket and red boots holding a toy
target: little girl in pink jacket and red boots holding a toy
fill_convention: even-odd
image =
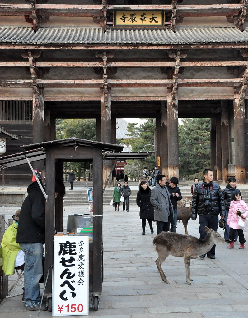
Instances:
[[[238,189],[233,191],[232,200],[233,201],[231,201],[230,203],[230,208],[227,217],[227,224],[230,227],[230,245],[228,245],[227,248],[233,248],[235,232],[237,230],[240,243],[239,249],[241,250],[244,248],[245,239],[243,230],[240,230],[240,228],[238,227],[238,216],[240,216],[240,218],[244,222],[245,228],[245,218],[248,216],[248,206],[246,205],[244,200],[241,200],[241,193]]]

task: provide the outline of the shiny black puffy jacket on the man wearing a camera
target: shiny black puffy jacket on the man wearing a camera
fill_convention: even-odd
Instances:
[[[196,219],[197,214],[213,214],[225,216],[224,198],[221,188],[216,183],[203,181],[197,185],[193,193],[191,218]]]

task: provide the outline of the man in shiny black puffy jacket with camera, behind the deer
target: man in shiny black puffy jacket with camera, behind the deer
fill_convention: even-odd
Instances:
[[[207,235],[205,226],[217,231],[219,224],[218,215],[221,214],[222,218],[225,217],[224,198],[220,186],[213,183],[213,171],[205,169],[203,175],[203,182],[198,184],[193,192],[191,213],[193,221],[196,220],[197,214],[199,215],[200,239],[204,239]],[[200,258],[203,259],[205,255],[201,255]],[[207,252],[207,256],[210,259],[215,259],[215,245]]]

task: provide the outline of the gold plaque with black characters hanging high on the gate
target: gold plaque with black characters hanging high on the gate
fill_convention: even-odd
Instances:
[[[115,11],[113,26],[127,28],[163,28],[164,11]]]

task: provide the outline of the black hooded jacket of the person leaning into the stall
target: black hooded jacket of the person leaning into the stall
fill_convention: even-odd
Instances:
[[[28,196],[23,201],[20,211],[16,241],[44,244],[46,199],[37,181],[28,186],[27,192]]]

